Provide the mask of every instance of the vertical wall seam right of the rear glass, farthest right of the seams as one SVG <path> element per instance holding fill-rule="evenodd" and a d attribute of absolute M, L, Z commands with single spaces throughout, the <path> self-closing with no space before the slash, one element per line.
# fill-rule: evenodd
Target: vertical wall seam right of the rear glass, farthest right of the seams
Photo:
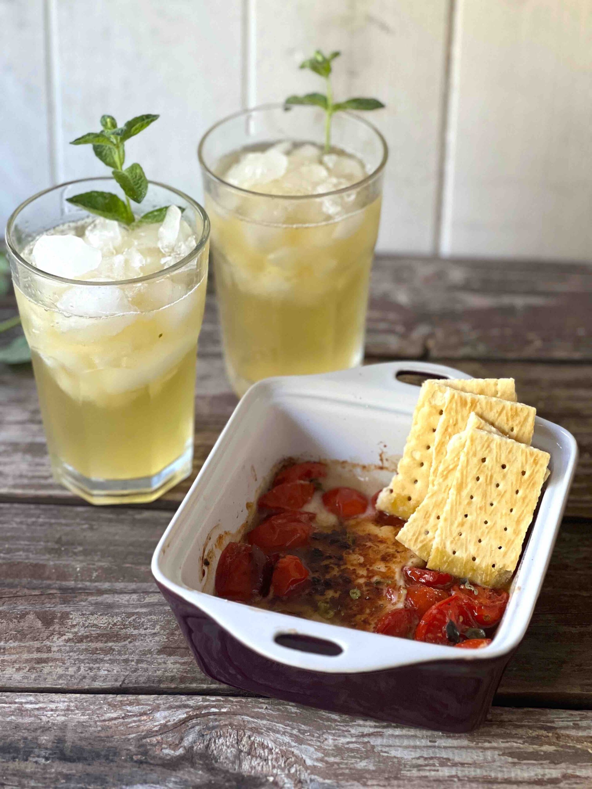
<path fill-rule="evenodd" d="M 458 41 L 456 25 L 460 17 L 459 5 L 462 0 L 450 0 L 448 5 L 448 25 L 446 30 L 444 53 L 444 84 L 440 105 L 440 131 L 438 135 L 439 157 L 436 181 L 436 205 L 433 224 L 433 254 L 442 254 L 442 238 L 444 235 L 444 222 L 448 221 L 448 211 L 445 208 L 445 198 L 449 191 L 448 180 L 451 174 L 449 157 L 453 142 L 451 125 L 454 124 L 453 107 L 455 103 L 454 72 L 457 58 L 455 47 Z"/>

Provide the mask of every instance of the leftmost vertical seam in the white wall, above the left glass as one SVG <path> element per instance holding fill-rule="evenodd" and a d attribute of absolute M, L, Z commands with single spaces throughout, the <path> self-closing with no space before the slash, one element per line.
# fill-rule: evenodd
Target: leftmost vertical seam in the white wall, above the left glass
<path fill-rule="evenodd" d="M 47 103 L 47 146 L 52 184 L 63 181 L 62 93 L 59 85 L 57 0 L 44 0 L 45 92 Z"/>

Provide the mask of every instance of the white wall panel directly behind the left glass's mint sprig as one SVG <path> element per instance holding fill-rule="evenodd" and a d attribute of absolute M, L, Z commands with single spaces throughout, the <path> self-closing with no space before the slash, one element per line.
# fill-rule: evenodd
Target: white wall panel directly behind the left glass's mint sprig
<path fill-rule="evenodd" d="M 89 146 L 69 145 L 101 114 L 152 112 L 127 162 L 200 199 L 200 136 L 241 107 L 241 0 L 58 0 L 58 28 L 62 178 L 108 174 Z"/>

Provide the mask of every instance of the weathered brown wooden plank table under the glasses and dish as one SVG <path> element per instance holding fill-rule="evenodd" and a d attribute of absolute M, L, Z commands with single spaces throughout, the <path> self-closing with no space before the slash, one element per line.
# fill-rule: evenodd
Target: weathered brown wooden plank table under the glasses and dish
<path fill-rule="evenodd" d="M 13 312 L 0 302 L 0 320 Z M 534 619 L 487 723 L 441 735 L 299 708 L 200 674 L 150 574 L 185 483 L 89 507 L 51 480 L 30 368 L 0 375 L 0 786 L 592 786 L 592 267 L 377 260 L 367 361 L 514 376 L 581 459 Z M 215 303 L 195 469 L 236 404 Z"/>

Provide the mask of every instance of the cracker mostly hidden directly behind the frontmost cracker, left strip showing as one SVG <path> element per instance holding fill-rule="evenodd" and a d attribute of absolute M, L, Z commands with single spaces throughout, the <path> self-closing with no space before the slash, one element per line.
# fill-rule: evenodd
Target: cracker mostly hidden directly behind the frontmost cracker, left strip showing
<path fill-rule="evenodd" d="M 466 438 L 469 432 L 474 429 L 501 436 L 501 433 L 493 425 L 478 417 L 476 413 L 471 413 L 463 432 L 452 436 L 448 442 L 448 450 L 444 460 L 433 474 L 425 499 L 397 535 L 399 542 L 410 548 L 425 562 L 432 552 L 433 540 L 440 524 L 440 516 L 446 507 L 448 493 L 465 448 Z"/>

